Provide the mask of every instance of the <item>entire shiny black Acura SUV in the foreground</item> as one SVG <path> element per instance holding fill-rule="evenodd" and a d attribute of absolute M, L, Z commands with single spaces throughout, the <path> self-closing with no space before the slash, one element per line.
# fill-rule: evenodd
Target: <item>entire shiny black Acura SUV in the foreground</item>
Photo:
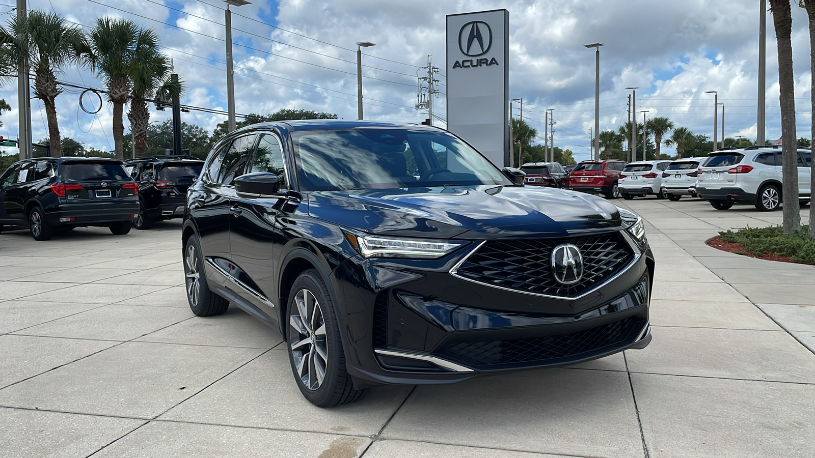
<path fill-rule="evenodd" d="M 215 144 L 187 192 L 189 304 L 205 316 L 232 302 L 280 329 L 298 387 L 323 407 L 372 385 L 647 346 L 641 218 L 522 183 L 430 126 L 247 126 Z"/>

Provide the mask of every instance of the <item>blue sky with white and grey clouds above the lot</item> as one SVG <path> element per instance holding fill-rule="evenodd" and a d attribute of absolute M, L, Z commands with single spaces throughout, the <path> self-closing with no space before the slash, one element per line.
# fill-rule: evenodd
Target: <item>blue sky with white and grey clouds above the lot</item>
<path fill-rule="evenodd" d="M 0 0 L 11 18 L 14 0 Z M 107 6 L 107 5 L 111 6 Z M 73 23 L 92 26 L 103 15 L 125 17 L 161 36 L 175 71 L 187 81 L 183 103 L 227 109 L 224 7 L 222 0 L 29 0 L 29 9 L 56 11 Z M 627 119 L 628 86 L 637 90 L 637 116 L 671 118 L 697 134 L 712 136 L 713 97 L 725 103 L 725 134 L 756 138 L 760 0 L 559 0 L 558 2 L 471 0 L 253 0 L 233 7 L 236 111 L 274 112 L 306 108 L 356 118 L 355 42 L 363 51 L 367 119 L 419 122 L 414 109 L 416 73 L 427 55 L 442 69 L 435 112 L 446 117 L 445 15 L 496 8 L 509 10 L 512 98 L 524 99 L 524 119 L 543 137 L 544 110 L 554 108 L 555 144 L 588 159 L 594 124 L 594 51 L 602 42 L 601 130 Z M 780 136 L 778 59 L 772 15 L 767 14 L 767 138 Z M 809 42 L 806 13 L 793 7 L 793 50 L 798 136 L 810 136 Z M 64 68 L 60 81 L 102 87 L 95 74 Z M 112 150 L 111 107 L 98 115 L 79 110 L 80 90 L 57 99 L 64 136 L 89 147 Z M 0 134 L 17 136 L 15 86 L 0 90 L 11 104 Z M 94 97 L 86 103 L 98 104 Z M 42 103 L 32 100 L 33 138 L 46 137 Z M 516 105 L 515 116 L 518 116 Z M 163 121 L 170 110 L 154 112 Z M 192 111 L 183 121 L 211 131 L 225 116 Z M 127 121 L 126 125 L 127 125 Z M 438 125 L 444 126 L 443 121 Z M 540 140 L 542 142 L 542 140 Z M 666 148 L 671 152 L 670 148 Z M 11 148 L 5 148 L 11 152 Z"/>

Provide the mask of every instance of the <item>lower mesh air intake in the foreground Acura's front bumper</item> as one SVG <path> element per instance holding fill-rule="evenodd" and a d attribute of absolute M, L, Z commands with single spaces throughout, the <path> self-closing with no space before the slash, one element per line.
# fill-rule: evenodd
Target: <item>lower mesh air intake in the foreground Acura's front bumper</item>
<path fill-rule="evenodd" d="M 460 342 L 447 346 L 440 354 L 471 368 L 530 366 L 615 346 L 625 341 L 637 324 L 641 324 L 641 319 L 632 316 L 596 328 L 557 336 Z"/>

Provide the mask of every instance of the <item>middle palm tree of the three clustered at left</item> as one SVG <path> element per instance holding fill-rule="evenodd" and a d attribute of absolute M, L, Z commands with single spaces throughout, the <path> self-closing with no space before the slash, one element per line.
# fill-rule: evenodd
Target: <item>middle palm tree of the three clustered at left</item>
<path fill-rule="evenodd" d="M 143 33 L 131 20 L 98 18 L 90 30 L 90 52 L 86 59 L 99 73 L 108 88 L 108 100 L 113 103 L 113 143 L 116 156 L 124 159 L 122 137 L 125 126 L 122 112 L 130 97 L 133 59 L 139 36 Z"/>

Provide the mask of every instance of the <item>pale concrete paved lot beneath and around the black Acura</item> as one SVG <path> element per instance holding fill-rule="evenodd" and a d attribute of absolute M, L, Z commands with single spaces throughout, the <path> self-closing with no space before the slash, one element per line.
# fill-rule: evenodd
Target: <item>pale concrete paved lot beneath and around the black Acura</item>
<path fill-rule="evenodd" d="M 703 244 L 781 212 L 616 203 L 658 261 L 648 348 L 331 409 L 302 398 L 275 331 L 192 315 L 180 222 L 3 233 L 0 456 L 815 456 L 815 267 Z"/>

